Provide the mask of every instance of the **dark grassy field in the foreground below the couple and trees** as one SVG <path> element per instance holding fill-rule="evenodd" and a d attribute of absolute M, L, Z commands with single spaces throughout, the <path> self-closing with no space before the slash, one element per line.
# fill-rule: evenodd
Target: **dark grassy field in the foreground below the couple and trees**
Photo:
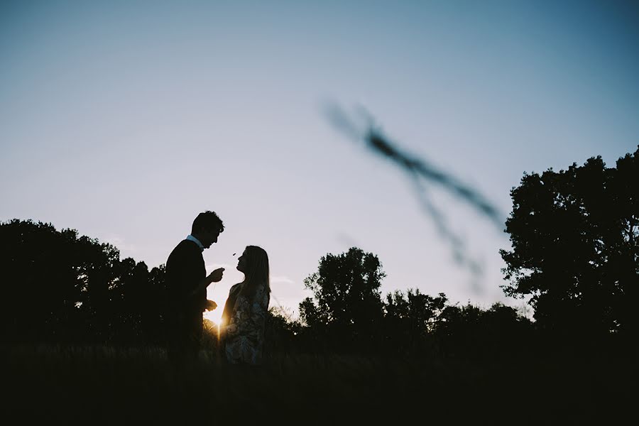
<path fill-rule="evenodd" d="M 1 350 L 5 425 L 621 424 L 638 396 L 638 368 L 623 356 L 497 362 L 279 354 L 260 368 L 233 368 L 202 351 L 176 373 L 159 348 Z"/>

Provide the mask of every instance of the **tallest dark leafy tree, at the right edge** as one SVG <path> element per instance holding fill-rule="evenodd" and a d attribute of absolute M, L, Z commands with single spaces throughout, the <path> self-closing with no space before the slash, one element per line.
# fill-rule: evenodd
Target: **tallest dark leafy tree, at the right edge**
<path fill-rule="evenodd" d="M 639 149 L 559 173 L 524 174 L 501 250 L 506 295 L 530 296 L 539 327 L 562 334 L 632 334 L 639 286 Z"/>

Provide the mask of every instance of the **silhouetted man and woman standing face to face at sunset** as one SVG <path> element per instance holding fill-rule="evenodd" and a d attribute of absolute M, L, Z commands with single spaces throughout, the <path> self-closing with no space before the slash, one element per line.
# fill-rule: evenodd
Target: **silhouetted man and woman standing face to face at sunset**
<path fill-rule="evenodd" d="M 217 243 L 224 224 L 215 212 L 202 212 L 191 234 L 173 249 L 166 262 L 168 356 L 177 366 L 195 361 L 202 339 L 202 312 L 217 303 L 207 300 L 207 287 L 222 280 L 224 268 L 207 275 L 202 251 Z M 238 258 L 244 280 L 231 287 L 219 327 L 222 354 L 231 364 L 261 364 L 264 328 L 270 300 L 268 256 L 247 246 Z"/>

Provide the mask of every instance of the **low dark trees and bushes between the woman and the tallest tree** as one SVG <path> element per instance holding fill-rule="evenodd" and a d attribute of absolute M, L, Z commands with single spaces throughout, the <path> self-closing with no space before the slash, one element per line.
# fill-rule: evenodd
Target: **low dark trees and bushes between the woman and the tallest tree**
<path fill-rule="evenodd" d="M 530 320 L 501 304 L 489 310 L 459 307 L 448 305 L 444 293 L 433 297 L 413 289 L 395 290 L 382 300 L 383 276 L 378 258 L 361 249 L 323 256 L 317 272 L 305 280 L 314 297 L 300 303 L 302 323 L 295 324 L 296 344 L 289 347 L 502 358 L 522 354 L 535 339 Z"/>

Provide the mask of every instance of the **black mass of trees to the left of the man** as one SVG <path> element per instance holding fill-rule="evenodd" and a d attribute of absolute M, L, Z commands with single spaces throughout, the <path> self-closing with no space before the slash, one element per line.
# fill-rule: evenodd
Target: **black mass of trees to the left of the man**
<path fill-rule="evenodd" d="M 164 268 L 120 260 L 111 244 L 51 224 L 0 223 L 8 341 L 160 342 Z"/>

